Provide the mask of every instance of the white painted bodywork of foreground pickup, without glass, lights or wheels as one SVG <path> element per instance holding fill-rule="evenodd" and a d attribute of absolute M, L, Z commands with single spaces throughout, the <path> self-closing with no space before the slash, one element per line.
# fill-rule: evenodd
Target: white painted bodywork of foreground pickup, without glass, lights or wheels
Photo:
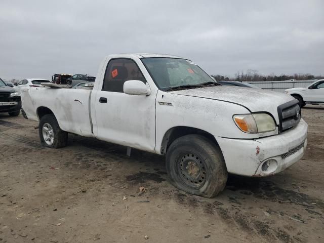
<path fill-rule="evenodd" d="M 258 138 L 258 134 L 240 131 L 232 119 L 234 114 L 268 112 L 278 125 L 277 106 L 293 100 L 293 97 L 226 86 L 164 92 L 158 90 L 141 62 L 143 56 L 174 57 L 158 54 L 110 55 L 100 64 L 92 91 L 30 87 L 22 92 L 23 109 L 28 118 L 37 120 L 37 108 L 48 107 L 64 131 L 158 154 L 162 153 L 161 144 L 170 129 L 178 126 L 197 128 L 216 138 L 230 173 L 246 176 L 259 173 L 258 168 L 265 159 L 277 158 L 305 140 L 307 125 L 303 120 L 289 131 L 277 134 L 276 129 L 262 134 L 274 136 Z M 104 72 L 111 58 L 133 59 L 147 81 L 150 94 L 102 91 Z M 100 103 L 101 97 L 106 98 L 107 103 Z M 295 163 L 303 151 L 304 148 L 295 157 L 278 159 L 279 166 L 275 173 Z M 265 175 L 259 173 L 258 176 Z"/>

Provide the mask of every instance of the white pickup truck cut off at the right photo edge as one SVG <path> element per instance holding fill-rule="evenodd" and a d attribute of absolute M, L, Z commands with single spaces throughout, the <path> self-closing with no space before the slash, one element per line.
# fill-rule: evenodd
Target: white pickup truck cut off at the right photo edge
<path fill-rule="evenodd" d="M 316 80 L 306 88 L 287 89 L 285 94 L 296 98 L 301 107 L 306 104 L 324 104 L 324 79 Z"/>

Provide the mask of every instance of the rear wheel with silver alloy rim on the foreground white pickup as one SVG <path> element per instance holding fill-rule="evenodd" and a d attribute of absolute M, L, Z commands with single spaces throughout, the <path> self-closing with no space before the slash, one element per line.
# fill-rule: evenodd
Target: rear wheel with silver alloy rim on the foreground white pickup
<path fill-rule="evenodd" d="M 61 148 L 66 146 L 68 133 L 61 130 L 53 114 L 44 115 L 39 121 L 39 138 L 43 146 Z"/>

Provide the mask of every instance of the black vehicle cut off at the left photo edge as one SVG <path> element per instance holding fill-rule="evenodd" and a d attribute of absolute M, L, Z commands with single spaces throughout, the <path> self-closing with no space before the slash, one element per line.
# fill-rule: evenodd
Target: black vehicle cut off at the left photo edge
<path fill-rule="evenodd" d="M 21 100 L 15 90 L 0 78 L 0 113 L 17 116 L 20 113 Z"/>

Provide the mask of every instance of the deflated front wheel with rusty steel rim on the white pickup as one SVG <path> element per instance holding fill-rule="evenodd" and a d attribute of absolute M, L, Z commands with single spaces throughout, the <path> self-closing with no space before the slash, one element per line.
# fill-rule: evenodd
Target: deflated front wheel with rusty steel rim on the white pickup
<path fill-rule="evenodd" d="M 227 170 L 220 148 L 201 135 L 186 135 L 168 148 L 167 172 L 171 183 L 190 194 L 214 197 L 226 185 Z"/>

